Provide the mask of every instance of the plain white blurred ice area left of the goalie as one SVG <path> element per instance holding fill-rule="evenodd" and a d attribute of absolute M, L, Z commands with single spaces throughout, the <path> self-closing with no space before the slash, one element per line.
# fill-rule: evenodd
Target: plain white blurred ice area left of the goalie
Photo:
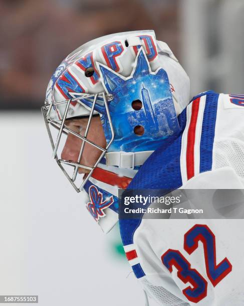
<path fill-rule="evenodd" d="M 41 306 L 143 306 L 113 249 L 118 229 L 100 230 L 51 158 L 41 111 L 2 111 L 0 127 L 0 294 L 39 295 Z"/>

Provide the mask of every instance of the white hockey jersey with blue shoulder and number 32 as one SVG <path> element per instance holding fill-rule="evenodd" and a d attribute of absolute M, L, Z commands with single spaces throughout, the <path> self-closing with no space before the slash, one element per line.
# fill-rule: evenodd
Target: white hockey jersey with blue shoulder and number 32
<path fill-rule="evenodd" d="M 129 188 L 244 189 L 244 96 L 205 92 Z M 244 197 L 243 197 L 244 206 Z M 127 259 L 160 305 L 244 305 L 243 219 L 120 219 Z"/>

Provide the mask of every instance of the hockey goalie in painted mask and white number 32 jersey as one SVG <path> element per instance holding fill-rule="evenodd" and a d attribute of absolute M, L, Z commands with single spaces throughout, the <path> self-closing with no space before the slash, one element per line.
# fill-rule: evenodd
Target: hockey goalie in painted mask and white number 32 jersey
<path fill-rule="evenodd" d="M 191 99 L 189 88 L 154 31 L 123 32 L 68 55 L 42 111 L 53 157 L 87 193 L 84 204 L 104 232 L 119 220 L 147 295 L 168 306 L 244 305 L 244 95 L 206 91 Z M 220 202 L 218 218 L 126 219 L 119 189 L 238 189 L 241 196 L 229 203 L 231 218 Z M 204 205 L 216 208 L 207 198 Z"/>

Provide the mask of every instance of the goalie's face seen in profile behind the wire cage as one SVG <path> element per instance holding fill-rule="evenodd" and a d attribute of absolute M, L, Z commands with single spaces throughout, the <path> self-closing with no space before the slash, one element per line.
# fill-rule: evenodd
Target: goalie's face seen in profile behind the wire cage
<path fill-rule="evenodd" d="M 87 123 L 88 123 L 88 118 L 70 119 L 65 121 L 65 125 L 67 127 L 72 129 L 76 133 L 80 134 L 81 136 L 84 136 Z M 104 131 L 100 116 L 92 117 L 87 134 L 87 139 L 91 140 L 92 142 L 98 144 L 103 148 L 106 147 L 106 139 L 104 136 Z M 77 162 L 81 145 L 82 145 L 82 140 L 77 136 L 69 133 L 61 154 L 61 158 Z M 94 166 L 95 162 L 97 161 L 101 153 L 102 153 L 101 150 L 86 142 L 80 160 L 80 164 L 86 166 Z M 90 170 L 88 169 L 79 168 L 79 173 L 89 173 L 89 172 Z"/>

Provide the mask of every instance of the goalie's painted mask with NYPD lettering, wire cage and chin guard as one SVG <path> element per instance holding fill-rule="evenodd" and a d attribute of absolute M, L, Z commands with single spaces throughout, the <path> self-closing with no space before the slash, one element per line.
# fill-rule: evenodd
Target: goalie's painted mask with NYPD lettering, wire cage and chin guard
<path fill-rule="evenodd" d="M 104 231 L 118 219 L 118 189 L 178 131 L 188 102 L 189 78 L 154 31 L 92 40 L 53 74 L 42 107 L 53 157 L 76 191 L 89 194 L 87 208 Z M 78 153 L 67 157 L 72 141 Z"/>

